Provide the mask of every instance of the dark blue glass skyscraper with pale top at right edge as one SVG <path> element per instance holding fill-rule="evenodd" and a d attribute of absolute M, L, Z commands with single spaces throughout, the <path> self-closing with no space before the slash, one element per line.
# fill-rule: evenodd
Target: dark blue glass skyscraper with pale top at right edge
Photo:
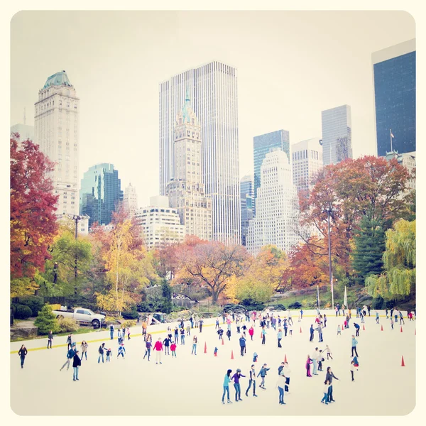
<path fill-rule="evenodd" d="M 415 151 L 415 38 L 371 55 L 377 155 Z M 391 133 L 392 147 L 391 147 Z"/>

